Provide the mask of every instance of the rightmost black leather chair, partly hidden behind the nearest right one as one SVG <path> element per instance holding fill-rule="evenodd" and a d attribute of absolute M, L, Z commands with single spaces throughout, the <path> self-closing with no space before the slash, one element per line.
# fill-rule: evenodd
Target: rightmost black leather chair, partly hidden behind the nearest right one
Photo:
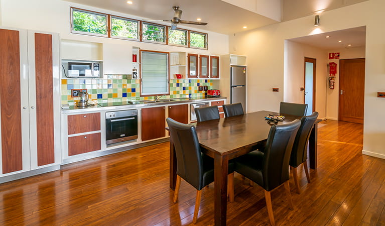
<path fill-rule="evenodd" d="M 293 172 L 294 184 L 296 185 L 297 193 L 300 194 L 300 186 L 298 184 L 297 167 L 302 163 L 304 164 L 304 170 L 306 179 L 310 183 L 310 176 L 307 164 L 307 144 L 310 137 L 310 132 L 313 128 L 315 121 L 317 120 L 318 112 L 313 112 L 310 116 L 304 116 L 301 119 L 301 127 L 298 130 L 296 139 L 293 144 L 292 154 L 290 156 L 290 170 Z"/>

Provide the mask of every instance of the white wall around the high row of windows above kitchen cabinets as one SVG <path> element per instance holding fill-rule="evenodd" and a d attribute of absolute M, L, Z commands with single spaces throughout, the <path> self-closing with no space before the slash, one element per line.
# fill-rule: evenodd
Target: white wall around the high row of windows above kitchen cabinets
<path fill-rule="evenodd" d="M 3 1 L 3 0 L 0 0 Z M 88 35 L 77 35 L 70 33 L 70 7 L 77 7 L 85 10 L 92 10 L 101 13 L 108 13 L 133 19 L 142 19 L 131 15 L 107 11 L 104 9 L 92 8 L 61 0 L 6 0 L 2 2 L 2 26 L 13 28 L 24 28 L 40 31 L 50 31 L 60 33 L 62 39 L 80 40 L 98 43 L 114 43 L 124 45 L 124 48 L 132 46 L 140 47 L 145 50 L 157 51 L 182 51 L 198 54 L 223 55 L 228 54 L 228 36 L 207 32 L 199 29 L 191 29 L 208 33 L 208 50 L 198 50 L 192 48 L 176 47 L 169 45 L 144 43 L 136 41 L 118 40 L 103 37 L 93 37 Z M 178 26 L 180 28 L 186 28 Z"/>

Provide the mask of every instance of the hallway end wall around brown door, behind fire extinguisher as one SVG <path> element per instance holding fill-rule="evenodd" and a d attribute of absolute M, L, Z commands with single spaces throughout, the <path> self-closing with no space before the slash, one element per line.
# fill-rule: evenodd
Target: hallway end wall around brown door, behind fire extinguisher
<path fill-rule="evenodd" d="M 365 58 L 365 47 L 331 49 L 327 53 L 340 53 L 340 59 L 355 59 Z M 327 114 L 326 118 L 338 120 L 338 98 L 339 98 L 339 59 L 329 60 L 328 63 L 334 62 L 337 64 L 337 74 L 334 83 L 334 89 L 327 89 Z"/>

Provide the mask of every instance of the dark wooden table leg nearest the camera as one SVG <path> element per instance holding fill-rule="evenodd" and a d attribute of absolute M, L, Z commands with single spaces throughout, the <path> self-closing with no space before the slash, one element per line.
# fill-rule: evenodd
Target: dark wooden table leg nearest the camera
<path fill-rule="evenodd" d="M 226 225 L 228 157 L 214 157 L 214 217 L 215 225 Z"/>

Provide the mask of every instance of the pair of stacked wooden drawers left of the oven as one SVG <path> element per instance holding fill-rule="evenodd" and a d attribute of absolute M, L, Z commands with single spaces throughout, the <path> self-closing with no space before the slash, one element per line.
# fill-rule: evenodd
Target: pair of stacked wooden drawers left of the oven
<path fill-rule="evenodd" d="M 100 112 L 67 116 L 68 156 L 101 149 Z"/>

